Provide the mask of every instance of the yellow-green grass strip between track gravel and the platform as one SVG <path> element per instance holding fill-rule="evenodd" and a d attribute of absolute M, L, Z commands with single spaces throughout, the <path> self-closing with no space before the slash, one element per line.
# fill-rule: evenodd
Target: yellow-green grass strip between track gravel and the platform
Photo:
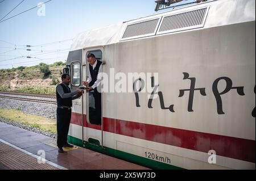
<path fill-rule="evenodd" d="M 6 110 L 0 108 L 0 117 L 6 120 L 13 120 L 18 123 L 30 125 L 44 131 L 57 133 L 56 120 L 42 116 L 28 115 L 18 110 Z"/>

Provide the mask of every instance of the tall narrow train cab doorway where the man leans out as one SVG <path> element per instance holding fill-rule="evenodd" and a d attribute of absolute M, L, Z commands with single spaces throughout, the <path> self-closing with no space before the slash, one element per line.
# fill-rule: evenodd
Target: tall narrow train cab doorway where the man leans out
<path fill-rule="evenodd" d="M 88 54 L 95 56 L 95 62 L 89 61 Z M 90 49 L 84 49 L 84 64 L 83 66 L 83 82 L 88 82 L 86 87 L 92 87 L 92 90 L 87 90 L 82 102 L 86 104 L 84 106 L 86 112 L 86 124 L 88 127 L 100 127 L 101 133 L 98 132 L 86 132 L 83 135 L 84 141 L 102 146 L 103 148 L 103 122 L 102 122 L 102 93 L 99 90 L 101 88 L 101 75 L 103 72 L 103 47 L 96 47 Z M 92 58 L 90 58 L 91 60 Z M 94 58 L 93 58 L 94 59 Z M 83 124 L 83 131 L 84 131 Z"/>

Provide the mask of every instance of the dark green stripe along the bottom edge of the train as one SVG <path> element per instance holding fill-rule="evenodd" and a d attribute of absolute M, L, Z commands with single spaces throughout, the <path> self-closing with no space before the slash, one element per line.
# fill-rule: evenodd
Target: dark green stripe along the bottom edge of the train
<path fill-rule="evenodd" d="M 172 170 L 181 170 L 182 168 L 176 167 L 173 165 L 169 165 L 166 163 L 154 161 L 152 159 L 139 157 L 138 155 L 126 153 L 124 151 L 115 150 L 112 148 L 105 147 L 105 149 L 102 149 L 101 146 L 96 146 L 93 144 L 89 144 L 89 142 L 84 141 L 84 144 L 82 144 L 82 140 L 76 137 L 68 136 L 68 142 L 73 145 L 77 145 L 86 149 L 90 149 L 93 151 L 97 151 L 102 154 L 110 155 L 116 158 L 124 159 L 129 162 L 137 163 L 139 165 L 143 165 L 146 167 L 150 167 L 151 169 L 172 169 Z"/>

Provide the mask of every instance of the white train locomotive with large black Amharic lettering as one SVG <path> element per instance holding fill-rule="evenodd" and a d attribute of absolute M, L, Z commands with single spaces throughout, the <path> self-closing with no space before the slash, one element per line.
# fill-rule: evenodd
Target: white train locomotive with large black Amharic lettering
<path fill-rule="evenodd" d="M 154 169 L 255 169 L 254 0 L 208 1 L 80 33 L 65 69 L 72 90 L 86 81 L 89 52 L 122 91 L 102 92 L 100 125 L 90 120 L 89 92 L 74 100 L 69 142 Z M 126 80 L 126 92 L 118 82 L 131 73 L 142 74 L 134 87 Z M 146 83 L 152 94 L 136 92 Z"/>

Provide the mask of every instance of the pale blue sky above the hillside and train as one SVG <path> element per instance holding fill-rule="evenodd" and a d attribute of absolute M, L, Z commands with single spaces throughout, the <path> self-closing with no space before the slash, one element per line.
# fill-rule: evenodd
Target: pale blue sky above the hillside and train
<path fill-rule="evenodd" d="M 170 10 L 155 12 L 155 0 L 47 1 L 0 0 L 0 69 L 67 60 L 72 39 L 80 32 Z M 47 2 L 45 11 L 29 10 L 40 2 Z"/>

